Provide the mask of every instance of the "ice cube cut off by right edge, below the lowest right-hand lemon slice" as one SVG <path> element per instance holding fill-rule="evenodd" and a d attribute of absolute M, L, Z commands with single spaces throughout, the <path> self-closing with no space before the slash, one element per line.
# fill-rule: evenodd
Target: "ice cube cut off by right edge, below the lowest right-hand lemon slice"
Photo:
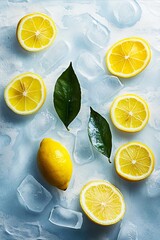
<path fill-rule="evenodd" d="M 160 169 L 152 173 L 146 181 L 147 193 L 149 197 L 160 196 Z"/>

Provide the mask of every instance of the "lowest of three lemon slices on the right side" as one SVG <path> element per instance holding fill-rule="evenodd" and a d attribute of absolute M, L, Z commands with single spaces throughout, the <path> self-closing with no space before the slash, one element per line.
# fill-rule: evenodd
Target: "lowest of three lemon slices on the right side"
<path fill-rule="evenodd" d="M 139 181 L 154 170 L 155 158 L 149 147 L 140 142 L 130 142 L 121 146 L 115 156 L 115 168 L 124 179 Z"/>

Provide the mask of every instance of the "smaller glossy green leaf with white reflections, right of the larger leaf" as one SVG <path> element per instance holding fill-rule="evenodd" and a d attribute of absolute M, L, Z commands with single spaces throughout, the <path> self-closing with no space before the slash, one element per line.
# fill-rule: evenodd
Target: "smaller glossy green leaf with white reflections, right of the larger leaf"
<path fill-rule="evenodd" d="M 103 155 L 108 157 L 112 151 L 112 134 L 108 122 L 99 113 L 90 108 L 88 135 L 92 145 Z"/>

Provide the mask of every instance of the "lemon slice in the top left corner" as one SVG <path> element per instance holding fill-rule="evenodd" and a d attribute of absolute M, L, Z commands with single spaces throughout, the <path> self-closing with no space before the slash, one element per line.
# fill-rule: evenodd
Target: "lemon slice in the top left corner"
<path fill-rule="evenodd" d="M 24 16 L 17 25 L 17 38 L 27 51 L 37 52 L 49 47 L 56 37 L 52 18 L 42 13 Z"/>

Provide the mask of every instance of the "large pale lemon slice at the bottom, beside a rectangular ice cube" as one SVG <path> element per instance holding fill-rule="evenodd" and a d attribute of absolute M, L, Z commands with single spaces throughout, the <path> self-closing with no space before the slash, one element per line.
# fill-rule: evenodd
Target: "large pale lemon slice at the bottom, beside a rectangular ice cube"
<path fill-rule="evenodd" d="M 100 225 L 115 224 L 125 213 L 122 193 L 104 180 L 87 183 L 81 190 L 80 204 L 86 215 Z"/>

